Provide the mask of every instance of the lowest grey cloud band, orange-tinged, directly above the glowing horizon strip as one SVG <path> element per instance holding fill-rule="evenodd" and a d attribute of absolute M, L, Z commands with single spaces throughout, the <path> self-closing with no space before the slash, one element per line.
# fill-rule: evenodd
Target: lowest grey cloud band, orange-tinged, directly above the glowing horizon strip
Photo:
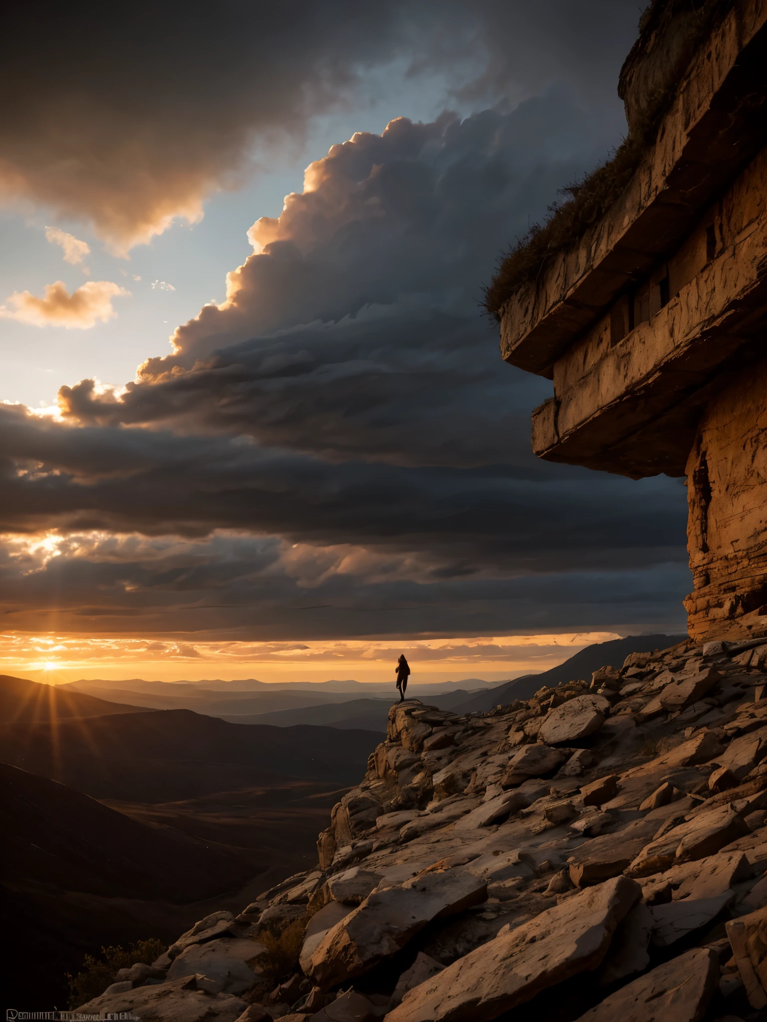
<path fill-rule="evenodd" d="M 6 630 L 162 631 L 198 642 L 588 631 L 595 621 L 674 628 L 685 574 L 670 564 L 441 579 L 422 559 L 222 533 L 194 542 L 76 533 L 52 557 L 18 545 L 8 553 L 0 553 Z"/>

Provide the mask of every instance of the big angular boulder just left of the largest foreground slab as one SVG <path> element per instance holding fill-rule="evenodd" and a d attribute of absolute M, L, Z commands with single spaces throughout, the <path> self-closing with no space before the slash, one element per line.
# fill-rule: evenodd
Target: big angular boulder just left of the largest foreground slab
<path fill-rule="evenodd" d="M 460 868 L 373 891 L 325 935 L 312 956 L 312 976 L 323 989 L 359 976 L 404 947 L 433 919 L 486 898 L 486 881 Z"/>

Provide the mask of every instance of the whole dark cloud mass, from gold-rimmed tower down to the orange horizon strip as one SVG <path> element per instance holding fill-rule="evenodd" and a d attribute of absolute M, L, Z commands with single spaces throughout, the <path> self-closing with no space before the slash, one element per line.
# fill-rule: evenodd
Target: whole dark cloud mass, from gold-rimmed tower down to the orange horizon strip
<path fill-rule="evenodd" d="M 480 316 L 494 254 L 607 143 L 561 90 L 355 135 L 137 381 L 62 387 L 62 422 L 0 408 L 0 525 L 58 530 L 2 567 L 25 621 L 55 587 L 58 621 L 103 631 L 676 622 L 683 491 L 537 461 L 549 384 Z"/>

